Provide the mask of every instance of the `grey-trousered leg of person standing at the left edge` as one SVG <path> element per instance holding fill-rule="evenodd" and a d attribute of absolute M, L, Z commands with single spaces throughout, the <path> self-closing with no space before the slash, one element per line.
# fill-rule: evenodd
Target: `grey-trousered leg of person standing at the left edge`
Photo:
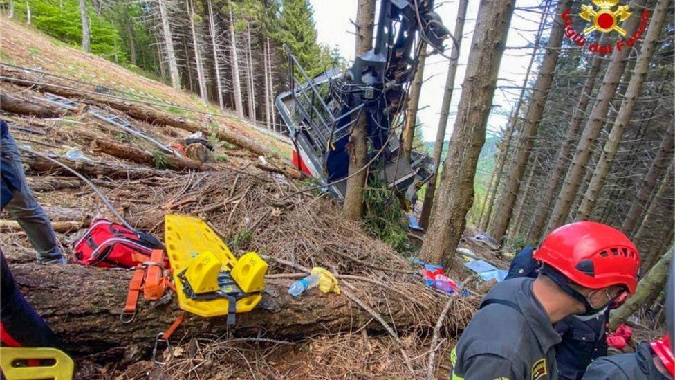
<path fill-rule="evenodd" d="M 8 134 L 0 140 L 0 150 L 3 155 L 14 165 L 17 174 L 21 178 L 21 192 L 15 192 L 15 196 L 5 207 L 5 210 L 14 218 L 26 232 L 30 244 L 37 251 L 37 260 L 40 262 L 65 262 L 61 247 L 57 244 L 56 235 L 49 218 L 30 192 L 24 168 L 21 167 L 21 155 L 19 147 Z"/>

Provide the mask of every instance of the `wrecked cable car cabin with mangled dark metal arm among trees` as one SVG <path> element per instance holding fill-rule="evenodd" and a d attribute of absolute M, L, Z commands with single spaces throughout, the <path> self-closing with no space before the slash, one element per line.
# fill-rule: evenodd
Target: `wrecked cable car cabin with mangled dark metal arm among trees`
<path fill-rule="evenodd" d="M 411 152 L 405 159 L 394 125 L 407 102 L 420 41 L 443 51 L 450 35 L 433 12 L 434 1 L 382 0 L 379 3 L 375 47 L 358 57 L 346 71 L 332 69 L 308 78 L 286 47 L 290 90 L 275 100 L 295 145 L 293 161 L 338 199 L 344 199 L 349 170 L 351 128 L 362 114 L 367 120 L 368 161 L 376 175 L 398 192 L 414 194 L 434 174 L 436 163 L 427 154 Z M 302 84 L 297 83 L 302 81 Z"/>

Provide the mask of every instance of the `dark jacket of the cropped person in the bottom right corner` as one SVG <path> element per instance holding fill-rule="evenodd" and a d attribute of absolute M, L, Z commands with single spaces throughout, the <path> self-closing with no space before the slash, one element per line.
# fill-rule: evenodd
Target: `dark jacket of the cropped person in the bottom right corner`
<path fill-rule="evenodd" d="M 641 342 L 635 347 L 634 354 L 607 356 L 594 361 L 582 379 L 665 380 L 666 377 L 656 369 L 649 343 Z"/>

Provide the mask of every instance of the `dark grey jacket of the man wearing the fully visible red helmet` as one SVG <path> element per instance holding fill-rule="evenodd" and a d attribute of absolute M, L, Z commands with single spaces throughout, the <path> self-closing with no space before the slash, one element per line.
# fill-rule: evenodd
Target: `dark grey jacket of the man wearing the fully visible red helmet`
<path fill-rule="evenodd" d="M 514 278 L 488 292 L 452 352 L 452 379 L 557 379 L 553 346 L 560 335 L 533 282 Z"/>

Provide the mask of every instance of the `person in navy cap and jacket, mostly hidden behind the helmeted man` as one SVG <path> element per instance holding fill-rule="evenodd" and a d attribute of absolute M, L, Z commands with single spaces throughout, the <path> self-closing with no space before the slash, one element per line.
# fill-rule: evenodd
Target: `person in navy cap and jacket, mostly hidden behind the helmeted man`
<path fill-rule="evenodd" d="M 542 263 L 533 259 L 534 253 L 535 248 L 527 247 L 515 255 L 506 280 L 519 277 L 537 278 Z M 607 356 L 609 311 L 622 305 L 626 298 L 621 298 L 607 307 L 602 314 L 589 317 L 572 315 L 553 325 L 562 338 L 562 341 L 555 345 L 555 360 L 560 379 L 581 379 L 592 361 Z"/>

